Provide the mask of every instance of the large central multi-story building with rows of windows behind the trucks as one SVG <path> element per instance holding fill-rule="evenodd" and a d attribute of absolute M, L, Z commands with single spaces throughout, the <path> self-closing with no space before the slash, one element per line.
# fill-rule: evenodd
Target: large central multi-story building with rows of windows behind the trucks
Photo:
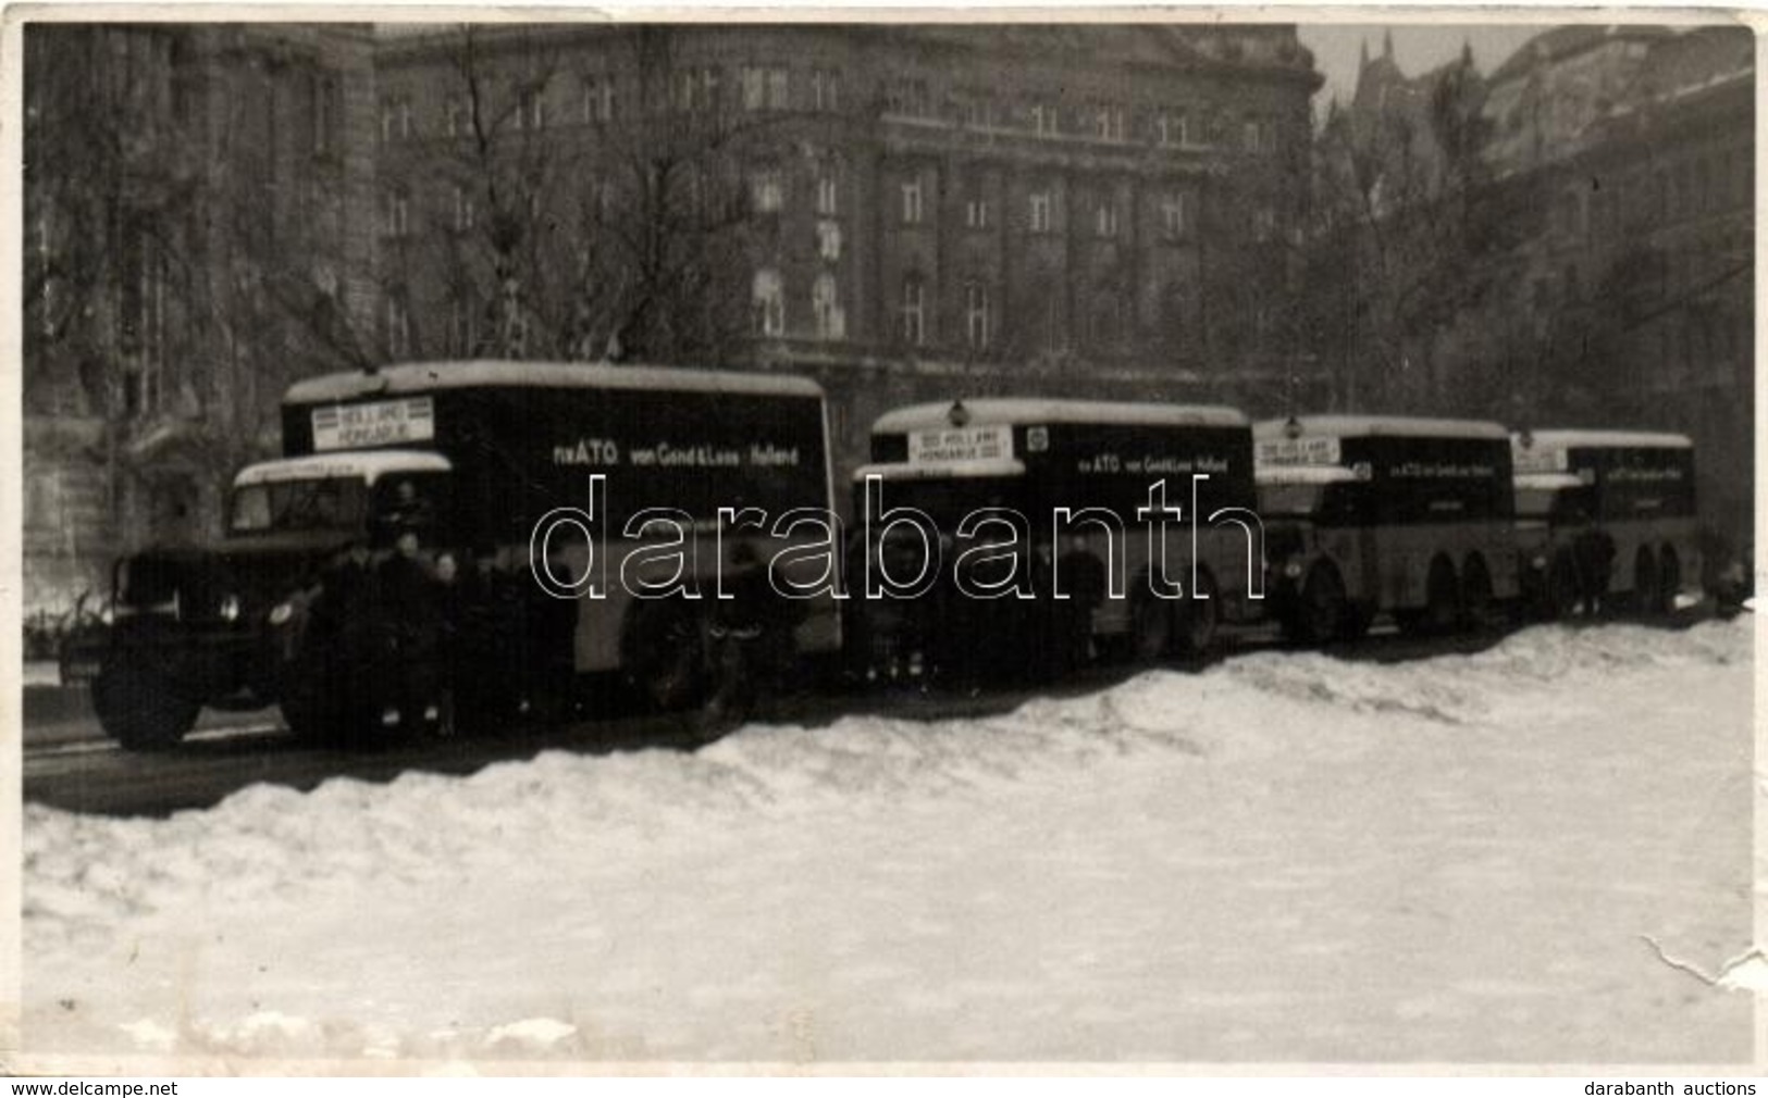
<path fill-rule="evenodd" d="M 923 394 L 1294 380 L 1291 26 L 421 28 L 378 78 L 391 357 L 808 372 L 843 463 Z"/>

